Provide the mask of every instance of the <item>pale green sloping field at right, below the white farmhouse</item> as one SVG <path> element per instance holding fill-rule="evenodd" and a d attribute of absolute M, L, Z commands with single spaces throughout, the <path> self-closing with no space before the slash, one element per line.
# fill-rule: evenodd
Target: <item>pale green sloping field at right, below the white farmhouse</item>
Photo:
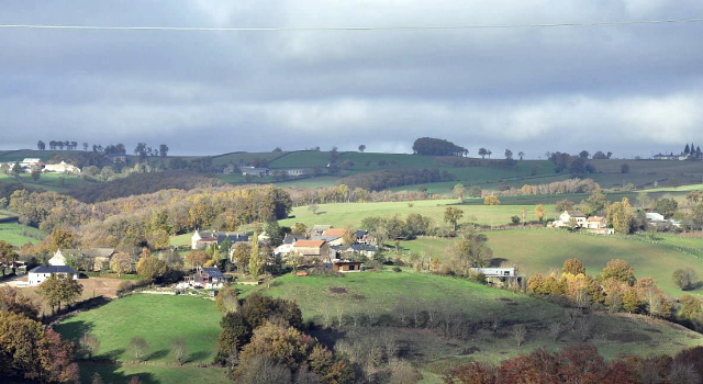
<path fill-rule="evenodd" d="M 558 229 L 513 229 L 486 233 L 488 246 L 493 250 L 493 263 L 516 263 L 522 273 L 559 271 L 566 259 L 581 260 L 590 274 L 599 274 L 611 259 L 625 259 L 635 269 L 637 278 L 651 276 L 658 285 L 674 297 L 689 293 L 703 298 L 703 290 L 682 292 L 674 285 L 671 274 L 680 268 L 693 268 L 703 278 L 702 239 L 673 236 L 659 237 L 652 244 L 646 237 L 595 236 L 570 234 Z M 447 255 L 453 240 L 419 238 L 403 241 L 406 252 L 438 257 Z M 678 247 L 691 249 L 681 251 Z M 695 251 L 699 249 L 699 251 Z"/>

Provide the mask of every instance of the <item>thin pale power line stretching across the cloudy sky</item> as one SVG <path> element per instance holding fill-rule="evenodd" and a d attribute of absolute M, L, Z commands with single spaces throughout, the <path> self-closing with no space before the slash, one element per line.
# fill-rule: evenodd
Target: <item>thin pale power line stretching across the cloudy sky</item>
<path fill-rule="evenodd" d="M 0 24 L 0 29 L 29 30 L 89 30 L 89 31 L 181 31 L 181 32 L 323 32 L 323 31 L 443 31 L 443 30 L 500 30 L 500 29 L 537 29 L 565 26 L 617 26 L 643 24 L 683 24 L 703 22 L 696 19 L 634 20 L 581 23 L 538 23 L 538 24 L 466 24 L 466 25 L 425 25 L 425 26 L 100 26 L 100 25 L 51 25 L 51 24 Z"/>

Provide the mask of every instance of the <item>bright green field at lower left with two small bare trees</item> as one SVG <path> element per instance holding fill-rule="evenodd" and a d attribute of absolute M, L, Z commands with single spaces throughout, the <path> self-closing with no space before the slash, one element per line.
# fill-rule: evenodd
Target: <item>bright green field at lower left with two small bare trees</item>
<path fill-rule="evenodd" d="M 145 373 L 156 383 L 204 383 L 212 376 L 215 383 L 226 382 L 220 375 L 199 363 L 211 363 L 216 353 L 216 338 L 220 334 L 220 313 L 211 301 L 188 297 L 135 294 L 115 300 L 107 305 L 72 316 L 56 330 L 64 337 L 77 341 L 85 332 L 93 334 L 100 340 L 98 358 L 114 359 L 120 364 L 85 364 L 85 371 L 98 369 L 110 376 Z M 149 358 L 144 364 L 134 364 L 134 358 L 126 351 L 130 339 L 143 337 L 149 346 Z M 174 369 L 170 341 L 185 338 L 189 362 L 182 369 Z M 222 371 L 222 370 L 220 370 Z M 180 372 L 180 373 L 179 373 Z"/>

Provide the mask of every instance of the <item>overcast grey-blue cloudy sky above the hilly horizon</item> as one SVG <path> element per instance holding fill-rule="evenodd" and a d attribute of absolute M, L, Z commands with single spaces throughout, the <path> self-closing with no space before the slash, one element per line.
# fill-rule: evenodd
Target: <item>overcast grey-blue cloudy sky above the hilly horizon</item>
<path fill-rule="evenodd" d="M 0 0 L 2 24 L 424 26 L 703 18 L 700 0 Z M 358 32 L 0 29 L 0 149 L 171 155 L 417 137 L 649 156 L 703 145 L 703 23 Z"/>

